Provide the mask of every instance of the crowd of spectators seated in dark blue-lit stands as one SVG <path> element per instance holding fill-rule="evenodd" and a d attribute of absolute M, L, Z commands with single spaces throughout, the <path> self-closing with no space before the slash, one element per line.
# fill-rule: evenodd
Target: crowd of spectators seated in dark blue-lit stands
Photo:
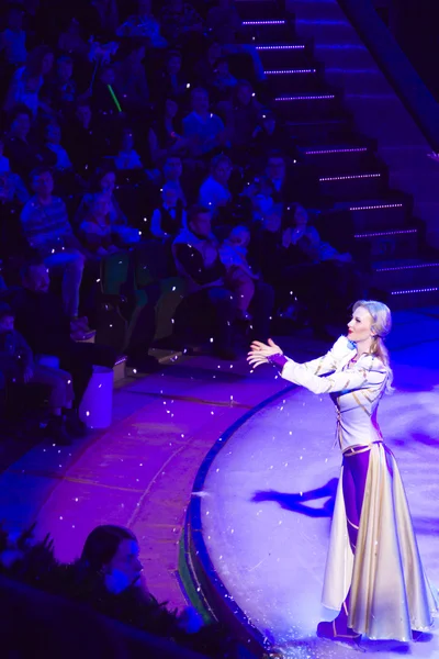
<path fill-rule="evenodd" d="M 184 283 L 176 345 L 196 338 L 223 359 L 297 304 L 325 335 L 331 301 L 346 309 L 361 287 L 300 205 L 318 203 L 245 30 L 233 0 L 2 8 L 1 404 L 44 387 L 56 442 L 85 432 L 92 366 L 117 358 L 83 343 L 114 255 L 128 255 L 133 292 L 136 255 L 160 245 L 160 272 Z M 154 330 L 145 321 L 135 335 L 131 365 L 155 368 Z M 61 370 L 43 368 L 45 354 Z"/>

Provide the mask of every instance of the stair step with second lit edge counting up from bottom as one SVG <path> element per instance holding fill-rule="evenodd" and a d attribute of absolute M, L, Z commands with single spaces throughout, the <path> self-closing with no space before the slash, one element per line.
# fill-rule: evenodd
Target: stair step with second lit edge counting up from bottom
<path fill-rule="evenodd" d="M 372 282 L 376 288 L 386 291 L 437 288 L 439 261 L 374 264 Z"/>

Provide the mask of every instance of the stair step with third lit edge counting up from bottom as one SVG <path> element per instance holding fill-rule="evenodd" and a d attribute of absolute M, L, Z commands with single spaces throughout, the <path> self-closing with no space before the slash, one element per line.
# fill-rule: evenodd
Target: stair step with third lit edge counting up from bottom
<path fill-rule="evenodd" d="M 353 238 L 357 244 L 367 245 L 372 259 L 414 258 L 418 254 L 419 235 L 415 227 L 361 232 Z"/>

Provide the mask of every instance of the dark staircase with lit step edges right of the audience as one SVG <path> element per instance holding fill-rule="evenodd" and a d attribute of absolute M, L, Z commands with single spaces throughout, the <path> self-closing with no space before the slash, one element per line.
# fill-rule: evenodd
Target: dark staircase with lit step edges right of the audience
<path fill-rule="evenodd" d="M 350 103 L 395 94 L 370 65 L 367 48 L 351 38 L 337 2 L 292 2 L 299 20 L 275 0 L 237 0 L 236 5 L 248 43 L 261 57 L 271 102 L 297 145 L 297 167 L 318 186 L 313 205 L 322 211 L 324 237 L 348 234 L 350 250 L 367 255 L 373 294 L 393 310 L 438 304 L 439 254 L 428 247 L 426 226 L 414 214 L 412 189 L 392 188 L 397 159 L 389 166 L 380 153 L 386 129 L 382 135 L 378 130 L 378 137 L 360 132 Z M 392 147 L 387 150 L 394 154 L 398 145 Z"/>

